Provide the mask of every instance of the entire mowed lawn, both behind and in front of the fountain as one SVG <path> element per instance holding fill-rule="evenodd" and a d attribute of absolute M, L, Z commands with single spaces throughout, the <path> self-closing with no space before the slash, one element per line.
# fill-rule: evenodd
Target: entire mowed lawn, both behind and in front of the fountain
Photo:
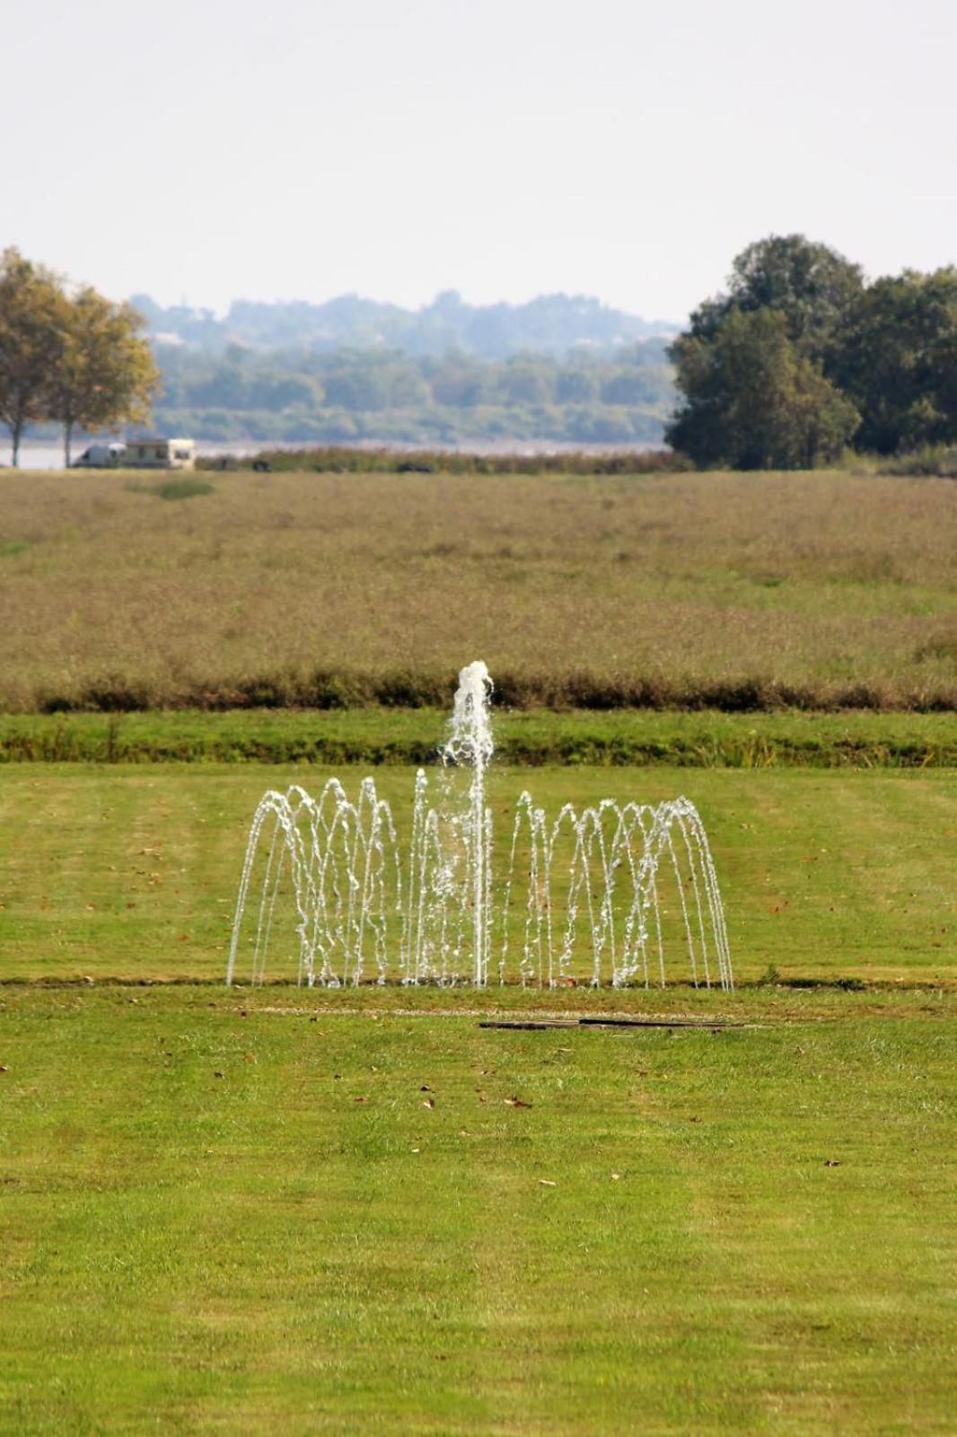
<path fill-rule="evenodd" d="M 0 769 L 0 1434 L 953 1431 L 957 773 L 493 772 L 500 841 L 687 793 L 731 994 L 227 990 L 254 805 L 329 772 Z"/>

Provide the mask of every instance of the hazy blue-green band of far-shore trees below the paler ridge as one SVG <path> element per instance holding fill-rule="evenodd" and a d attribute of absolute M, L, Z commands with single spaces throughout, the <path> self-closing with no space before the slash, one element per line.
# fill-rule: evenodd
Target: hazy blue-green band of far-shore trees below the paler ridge
<path fill-rule="evenodd" d="M 158 348 L 167 427 L 205 438 L 565 438 L 660 441 L 674 404 L 665 339 L 612 355 L 385 349 L 223 355 Z"/>

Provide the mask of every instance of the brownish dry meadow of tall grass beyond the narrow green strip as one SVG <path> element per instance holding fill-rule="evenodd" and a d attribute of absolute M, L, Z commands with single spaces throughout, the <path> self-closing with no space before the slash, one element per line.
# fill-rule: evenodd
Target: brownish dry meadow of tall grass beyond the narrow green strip
<path fill-rule="evenodd" d="M 957 489 L 0 474 L 0 707 L 957 706 Z"/>

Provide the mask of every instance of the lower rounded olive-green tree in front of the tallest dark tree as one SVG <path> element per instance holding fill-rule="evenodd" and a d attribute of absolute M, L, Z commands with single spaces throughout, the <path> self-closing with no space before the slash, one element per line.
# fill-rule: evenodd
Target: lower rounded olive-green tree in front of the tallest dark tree
<path fill-rule="evenodd" d="M 779 310 L 731 309 L 713 338 L 683 335 L 672 356 L 685 398 L 665 438 L 697 464 L 812 467 L 838 457 L 861 422 Z"/>

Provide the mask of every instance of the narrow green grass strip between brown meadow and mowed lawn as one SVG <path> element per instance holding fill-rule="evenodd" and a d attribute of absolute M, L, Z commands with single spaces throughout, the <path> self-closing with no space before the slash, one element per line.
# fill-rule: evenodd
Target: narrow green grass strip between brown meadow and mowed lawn
<path fill-rule="evenodd" d="M 438 708 L 0 714 L 0 763 L 434 763 Z M 951 714 L 499 713 L 506 764 L 957 767 Z"/>

